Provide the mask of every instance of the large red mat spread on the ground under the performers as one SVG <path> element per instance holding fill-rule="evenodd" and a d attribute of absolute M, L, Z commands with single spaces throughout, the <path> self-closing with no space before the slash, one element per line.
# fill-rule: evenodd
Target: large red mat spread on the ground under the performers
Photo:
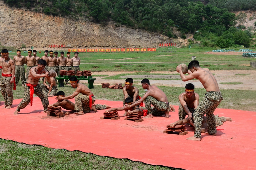
<path fill-rule="evenodd" d="M 135 123 L 124 120 L 124 111 L 119 111 L 119 120 L 101 120 L 105 110 L 82 116 L 46 117 L 38 97 L 34 97 L 33 106 L 29 104 L 14 115 L 20 101 L 14 100 L 14 108 L 0 109 L 0 138 L 183 169 L 256 166 L 256 112 L 216 109 L 215 114 L 231 117 L 233 122 L 219 126 L 224 130 L 217 131 L 217 136 L 202 134 L 202 141 L 198 142 L 186 140 L 194 135 L 191 127 L 186 127 L 189 132 L 184 136 L 163 133 L 167 124 L 178 120 L 178 106 L 174 106 L 176 112 L 170 112 L 169 118 L 154 117 Z M 56 102 L 55 97 L 49 102 Z M 122 106 L 121 101 L 96 100 L 95 104 Z"/>

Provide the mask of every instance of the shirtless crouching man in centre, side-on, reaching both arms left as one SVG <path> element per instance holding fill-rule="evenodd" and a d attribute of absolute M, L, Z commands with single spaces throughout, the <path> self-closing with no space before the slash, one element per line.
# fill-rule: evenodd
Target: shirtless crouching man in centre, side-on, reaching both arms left
<path fill-rule="evenodd" d="M 164 115 L 164 117 L 166 118 L 169 118 L 169 111 L 172 110 L 173 112 L 175 112 L 175 109 L 169 106 L 169 102 L 165 93 L 162 90 L 160 90 L 157 86 L 150 85 L 149 79 L 143 79 L 141 81 L 141 85 L 143 89 L 147 89 L 148 91 L 144 94 L 144 96 L 141 99 L 139 99 L 132 105 L 125 105 L 125 109 L 137 106 L 145 100 L 145 106 L 146 109 L 148 110 L 148 115 L 143 118 L 153 118 L 153 116 L 162 115 Z M 154 106 L 153 109 L 151 108 L 151 104 Z"/>

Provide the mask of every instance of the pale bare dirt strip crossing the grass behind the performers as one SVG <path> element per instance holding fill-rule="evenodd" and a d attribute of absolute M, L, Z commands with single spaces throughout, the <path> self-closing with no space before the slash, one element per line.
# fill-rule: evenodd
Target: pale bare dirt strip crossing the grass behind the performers
<path fill-rule="evenodd" d="M 93 72 L 93 74 L 103 74 L 103 75 L 117 75 L 122 73 L 134 73 L 134 72 Z M 152 74 L 170 74 L 167 76 L 161 76 L 161 75 L 134 75 L 129 77 L 138 77 L 141 78 L 139 80 L 134 80 L 137 85 L 141 85 L 139 83 L 140 80 L 144 78 L 179 78 L 177 75 L 177 72 L 150 72 Z M 212 73 L 215 74 L 215 77 L 219 83 L 220 89 L 241 89 L 241 90 L 256 90 L 256 70 L 218 70 L 218 71 L 212 71 Z M 92 76 L 93 76 L 92 74 Z M 249 74 L 249 75 L 235 75 L 235 74 Z M 104 77 L 95 77 L 96 80 L 94 81 L 94 84 L 101 85 L 101 83 L 124 83 L 126 76 L 123 77 L 122 80 L 106 80 L 102 79 Z M 154 84 L 157 86 L 177 86 L 177 87 L 184 87 L 188 82 L 191 82 L 195 85 L 196 88 L 203 88 L 202 84 L 198 80 L 190 80 L 187 82 L 183 82 L 181 80 L 150 80 L 150 84 Z M 243 84 L 220 84 L 225 82 L 242 82 Z"/>

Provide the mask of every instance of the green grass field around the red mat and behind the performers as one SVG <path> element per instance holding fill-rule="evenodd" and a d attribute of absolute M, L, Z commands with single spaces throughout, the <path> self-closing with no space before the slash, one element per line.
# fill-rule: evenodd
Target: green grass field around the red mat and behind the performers
<path fill-rule="evenodd" d="M 237 51 L 239 49 L 236 49 Z M 242 55 L 215 55 L 207 54 L 212 51 L 209 48 L 188 48 L 176 49 L 174 53 L 155 52 L 155 53 L 80 53 L 82 63 L 81 70 L 100 71 L 138 71 L 136 75 L 148 74 L 148 71 L 175 71 L 179 63 L 188 64 L 191 56 L 197 56 L 202 67 L 210 70 L 234 70 L 253 68 L 247 66 L 255 58 L 244 58 Z M 22 53 L 27 55 L 26 53 Z M 10 53 L 10 57 L 15 53 Z M 43 53 L 38 55 L 41 57 Z M 127 59 L 134 58 L 134 59 Z M 125 60 L 124 60 L 125 59 Z M 118 62 L 118 63 L 113 63 Z M 153 63 L 143 63 L 153 62 Z M 154 63 L 155 62 L 155 63 Z M 162 62 L 162 63 L 156 63 Z M 165 63 L 174 62 L 174 63 Z M 129 75 L 129 74 L 124 74 Z M 134 75 L 134 74 L 133 74 Z M 174 74 L 175 75 L 175 74 Z M 102 76 L 100 73 L 98 76 Z M 106 77 L 106 79 L 119 79 L 121 75 Z M 242 75 L 241 75 L 242 76 Z M 95 76 L 96 77 L 96 76 Z M 143 96 L 145 91 L 141 86 L 139 95 Z M 159 86 L 166 93 L 168 101 L 173 105 L 179 105 L 178 95 L 184 92 L 184 88 Z M 58 88 L 65 91 L 66 95 L 73 93 L 74 89 L 70 86 Z M 97 99 L 122 101 L 122 90 L 102 89 L 99 85 L 94 85 L 92 89 Z M 195 89 L 199 94 L 200 101 L 203 99 L 205 89 Z M 222 90 L 224 97 L 218 108 L 229 108 L 238 110 L 255 111 L 256 91 L 250 90 Z M 14 91 L 14 99 L 23 98 L 24 88 L 17 86 Z M 1 97 L 3 101 L 3 97 Z M 51 104 L 51 103 L 50 103 Z M 177 112 L 177 111 L 176 111 Z M 171 167 L 152 166 L 141 162 L 134 162 L 128 159 L 115 159 L 102 157 L 90 153 L 79 151 L 69 152 L 65 149 L 51 149 L 43 146 L 26 145 L 9 140 L 0 140 L 0 170 L 1 169 L 172 169 Z"/>

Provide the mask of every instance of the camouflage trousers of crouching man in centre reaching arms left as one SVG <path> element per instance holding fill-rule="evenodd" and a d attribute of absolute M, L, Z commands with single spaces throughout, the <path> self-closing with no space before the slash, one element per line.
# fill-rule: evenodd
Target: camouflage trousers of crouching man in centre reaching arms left
<path fill-rule="evenodd" d="M 154 106 L 153 109 L 151 104 Z M 165 114 L 166 110 L 170 110 L 169 103 L 157 101 L 157 99 L 152 96 L 147 96 L 147 98 L 145 98 L 145 107 L 148 110 L 147 113 L 152 114 L 153 116 L 162 116 Z"/>

